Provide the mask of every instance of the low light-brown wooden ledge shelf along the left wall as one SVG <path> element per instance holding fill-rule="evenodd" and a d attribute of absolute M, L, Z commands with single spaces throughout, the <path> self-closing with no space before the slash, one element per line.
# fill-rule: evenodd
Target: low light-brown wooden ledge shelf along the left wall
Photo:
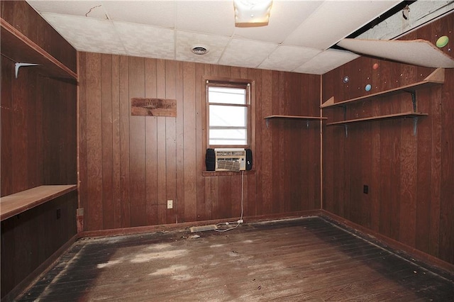
<path fill-rule="evenodd" d="M 76 191 L 77 185 L 37 186 L 33 189 L 0 198 L 0 220 L 23 213 L 35 206 Z"/>

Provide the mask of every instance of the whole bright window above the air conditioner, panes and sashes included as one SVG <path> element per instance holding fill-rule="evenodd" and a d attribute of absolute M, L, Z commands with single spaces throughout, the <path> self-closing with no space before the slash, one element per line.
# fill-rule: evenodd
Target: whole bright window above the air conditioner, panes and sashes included
<path fill-rule="evenodd" d="M 250 83 L 206 81 L 207 145 L 250 145 Z"/>

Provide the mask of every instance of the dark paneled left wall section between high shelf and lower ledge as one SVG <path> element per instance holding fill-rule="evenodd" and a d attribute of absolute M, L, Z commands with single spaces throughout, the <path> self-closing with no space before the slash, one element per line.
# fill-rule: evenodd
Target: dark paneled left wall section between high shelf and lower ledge
<path fill-rule="evenodd" d="M 77 87 L 1 57 L 1 196 L 77 183 Z"/>

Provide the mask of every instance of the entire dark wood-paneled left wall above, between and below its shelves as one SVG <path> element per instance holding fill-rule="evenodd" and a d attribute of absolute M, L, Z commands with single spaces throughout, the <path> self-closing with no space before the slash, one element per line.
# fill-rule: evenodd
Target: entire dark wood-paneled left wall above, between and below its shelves
<path fill-rule="evenodd" d="M 1 18 L 76 70 L 74 48 L 25 1 L 1 1 L 0 7 Z M 2 47 L 14 51 L 11 45 Z M 76 184 L 77 86 L 33 67 L 22 68 L 16 79 L 14 63 L 2 52 L 0 195 L 44 184 Z M 1 221 L 1 298 L 13 294 L 77 234 L 76 208 L 73 191 Z"/>

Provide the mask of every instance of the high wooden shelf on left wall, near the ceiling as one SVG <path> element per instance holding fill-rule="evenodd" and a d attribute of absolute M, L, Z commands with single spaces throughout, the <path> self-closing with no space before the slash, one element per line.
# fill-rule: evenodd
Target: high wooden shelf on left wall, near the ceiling
<path fill-rule="evenodd" d="M 13 62 L 38 64 L 39 66 L 26 68 L 39 69 L 40 72 L 49 77 L 77 80 L 75 72 L 55 59 L 55 57 L 43 50 L 43 48 L 26 37 L 26 35 L 23 35 L 3 18 L 0 18 L 0 27 L 2 55 L 13 60 Z"/>

